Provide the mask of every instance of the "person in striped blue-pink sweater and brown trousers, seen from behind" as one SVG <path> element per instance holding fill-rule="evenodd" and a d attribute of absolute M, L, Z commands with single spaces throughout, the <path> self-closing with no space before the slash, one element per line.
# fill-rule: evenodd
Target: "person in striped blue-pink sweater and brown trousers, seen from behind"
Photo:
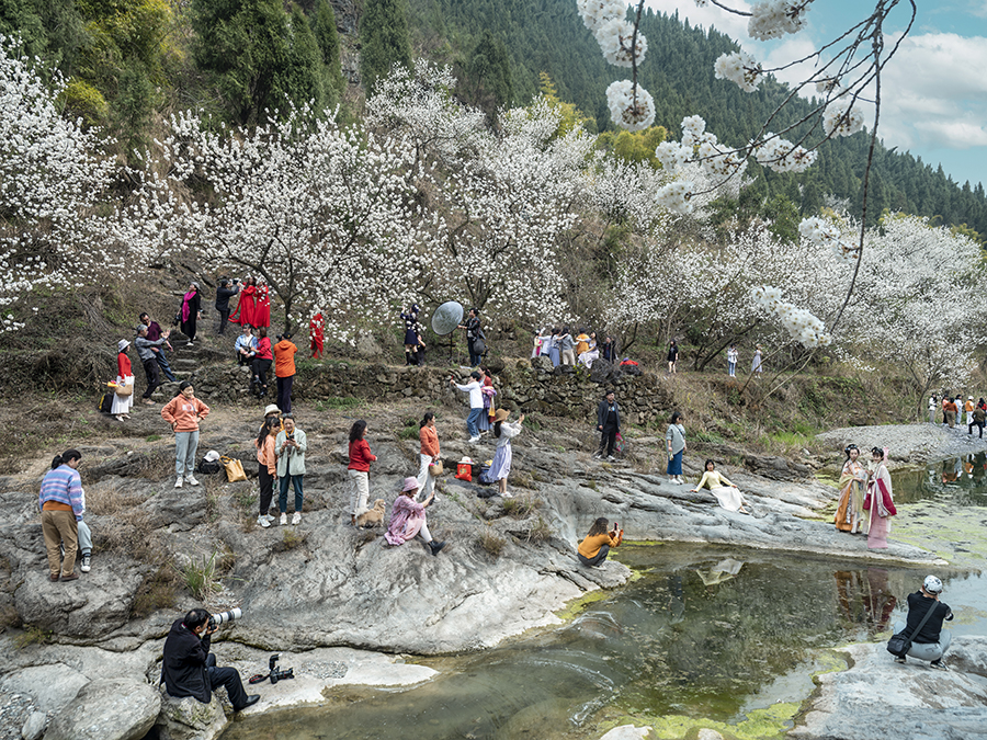
<path fill-rule="evenodd" d="M 42 479 L 37 508 L 41 510 L 42 534 L 48 554 L 48 578 L 75 581 L 76 549 L 79 547 L 78 521 L 86 511 L 79 465 L 82 453 L 66 449 L 52 460 L 52 469 Z M 61 556 L 65 549 L 65 557 Z"/>

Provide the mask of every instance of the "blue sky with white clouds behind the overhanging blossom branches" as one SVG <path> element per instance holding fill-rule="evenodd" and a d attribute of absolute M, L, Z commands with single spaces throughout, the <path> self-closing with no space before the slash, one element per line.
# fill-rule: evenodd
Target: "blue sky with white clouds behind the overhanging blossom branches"
<path fill-rule="evenodd" d="M 774 42 L 747 35 L 747 19 L 693 0 L 647 0 L 656 11 L 679 12 L 693 25 L 729 34 L 764 67 L 779 67 L 832 41 L 872 10 L 869 0 L 815 0 L 806 27 Z M 724 0 L 749 10 L 751 3 Z M 942 163 L 954 181 L 987 184 L 987 0 L 916 0 L 915 25 L 882 78 L 880 136 L 888 147 L 909 150 L 922 161 Z M 904 30 L 910 4 L 895 9 L 885 30 L 893 42 Z M 887 44 L 890 46 L 890 43 Z M 795 71 L 783 81 L 804 79 Z M 867 127 L 873 112 L 867 111 Z"/>

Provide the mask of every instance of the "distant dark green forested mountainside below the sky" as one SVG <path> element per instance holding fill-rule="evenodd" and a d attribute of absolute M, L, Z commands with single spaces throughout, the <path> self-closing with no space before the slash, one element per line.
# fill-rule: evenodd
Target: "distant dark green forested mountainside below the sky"
<path fill-rule="evenodd" d="M 547 72 L 563 100 L 575 103 L 601 129 L 612 126 L 604 91 L 619 72 L 600 55 L 577 14 L 575 0 L 410 0 L 410 12 L 417 46 L 453 64 L 465 78 L 467 94 L 483 90 L 481 75 L 496 70 L 483 64 L 492 35 L 510 57 L 514 102 L 524 103 L 536 94 L 538 73 Z M 747 93 L 715 79 L 716 57 L 738 48 L 718 32 L 706 34 L 678 15 L 650 9 L 645 11 L 640 31 L 649 48 L 640 82 L 655 98 L 655 124 L 665 126 L 672 138 L 681 134 L 683 117 L 699 114 L 722 141 L 739 146 L 757 134 L 787 94 L 787 88 L 773 81 Z M 472 79 L 477 76 L 479 79 Z M 808 102 L 796 101 L 780 125 L 798 121 L 808 110 Z M 824 144 L 817 163 L 803 174 L 769 172 L 755 162 L 748 172 L 757 177 L 755 193 L 784 195 L 804 216 L 817 213 L 827 194 L 849 201 L 849 213 L 859 215 L 866 152 L 867 137 L 860 133 Z M 987 234 L 983 184 L 961 186 L 941 167 L 908 152 L 878 147 L 871 198 L 870 213 L 875 220 L 887 208 L 939 216 L 944 224 L 965 224 Z"/>

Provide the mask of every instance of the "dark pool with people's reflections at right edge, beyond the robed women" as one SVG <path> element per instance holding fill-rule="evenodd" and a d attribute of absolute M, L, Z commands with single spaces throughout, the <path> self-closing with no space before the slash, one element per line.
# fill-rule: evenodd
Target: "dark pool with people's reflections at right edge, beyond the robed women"
<path fill-rule="evenodd" d="M 892 474 L 895 501 L 948 499 L 960 506 L 987 506 L 987 453 L 929 463 L 923 470 Z"/>

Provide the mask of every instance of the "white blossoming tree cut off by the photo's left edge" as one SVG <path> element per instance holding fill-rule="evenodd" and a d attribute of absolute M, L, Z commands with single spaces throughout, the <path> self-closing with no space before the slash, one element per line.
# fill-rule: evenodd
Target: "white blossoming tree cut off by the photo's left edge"
<path fill-rule="evenodd" d="M 125 275 L 132 260 L 104 249 L 92 217 L 115 174 L 97 132 L 58 113 L 65 83 L 45 83 L 18 42 L 0 35 L 0 333 L 35 288 L 81 287 L 83 276 Z"/>

